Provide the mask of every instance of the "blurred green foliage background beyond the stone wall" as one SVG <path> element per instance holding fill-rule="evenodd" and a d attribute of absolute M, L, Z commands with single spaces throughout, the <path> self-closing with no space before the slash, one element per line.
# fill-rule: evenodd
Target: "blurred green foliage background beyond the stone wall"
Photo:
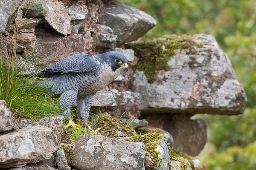
<path fill-rule="evenodd" d="M 230 57 L 247 94 L 239 116 L 201 115 L 214 152 L 207 170 L 256 169 L 256 0 L 120 0 L 145 11 L 157 26 L 144 39 L 164 34 L 212 34 Z"/>

